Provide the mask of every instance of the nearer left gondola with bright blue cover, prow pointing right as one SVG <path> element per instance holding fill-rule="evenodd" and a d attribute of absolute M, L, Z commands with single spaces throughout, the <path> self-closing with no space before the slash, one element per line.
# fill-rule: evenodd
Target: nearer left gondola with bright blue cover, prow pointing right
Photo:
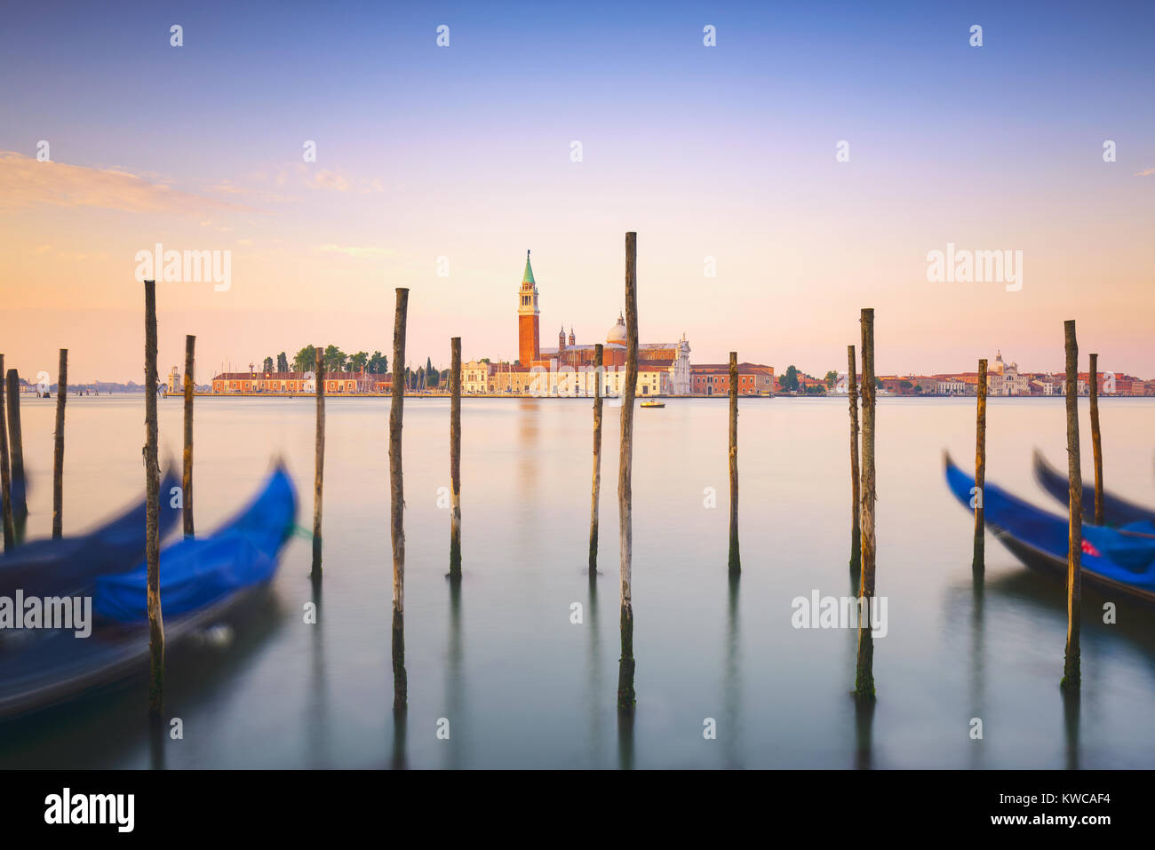
<path fill-rule="evenodd" d="M 161 552 L 165 651 L 236 616 L 276 573 L 293 529 L 297 493 L 277 467 L 253 501 L 219 530 Z M 96 627 L 76 638 L 57 629 L 25 646 L 0 646 L 0 717 L 62 702 L 148 669 L 147 567 L 96 582 Z"/>

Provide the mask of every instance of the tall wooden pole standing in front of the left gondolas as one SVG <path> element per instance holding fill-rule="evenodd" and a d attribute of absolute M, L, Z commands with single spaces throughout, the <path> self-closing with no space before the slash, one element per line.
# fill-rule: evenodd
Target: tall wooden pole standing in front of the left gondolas
<path fill-rule="evenodd" d="M 64 352 L 60 355 L 60 360 L 64 365 Z M 154 717 L 159 717 L 164 709 L 164 619 L 161 616 L 161 467 L 157 463 L 156 392 L 156 281 L 144 281 L 144 554 L 148 561 L 148 631 L 151 662 L 148 710 Z M 64 415 L 64 405 L 59 404 L 62 395 L 62 392 L 57 393 L 58 427 Z"/>

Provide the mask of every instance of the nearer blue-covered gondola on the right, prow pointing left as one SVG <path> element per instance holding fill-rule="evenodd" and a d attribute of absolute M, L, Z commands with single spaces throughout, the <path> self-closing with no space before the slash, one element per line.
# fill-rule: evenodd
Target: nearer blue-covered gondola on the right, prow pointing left
<path fill-rule="evenodd" d="M 968 508 L 975 478 L 945 456 L 951 492 Z M 1028 567 L 1066 575 L 1067 517 L 1036 508 L 988 482 L 983 516 L 994 537 Z M 1087 581 L 1155 603 L 1155 534 L 1147 523 L 1111 529 L 1082 527 L 1082 575 Z"/>

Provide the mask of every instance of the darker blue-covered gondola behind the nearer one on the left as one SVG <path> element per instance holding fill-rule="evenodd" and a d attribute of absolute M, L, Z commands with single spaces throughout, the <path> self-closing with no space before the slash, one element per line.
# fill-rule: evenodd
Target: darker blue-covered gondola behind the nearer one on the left
<path fill-rule="evenodd" d="M 169 493 L 180 480 L 170 469 L 161 483 L 158 528 L 163 536 L 180 516 Z M 144 557 L 144 500 L 87 535 L 31 540 L 0 557 L 0 596 L 74 596 L 97 576 L 132 569 Z"/>

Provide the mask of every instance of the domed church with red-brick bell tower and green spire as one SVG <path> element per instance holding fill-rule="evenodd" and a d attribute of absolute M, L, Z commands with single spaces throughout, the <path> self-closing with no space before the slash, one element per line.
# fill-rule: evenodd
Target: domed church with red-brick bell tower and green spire
<path fill-rule="evenodd" d="M 594 344 L 579 343 L 573 327 L 566 336 L 565 326 L 558 333 L 557 348 L 541 345 L 539 292 L 534 279 L 529 252 L 526 252 L 526 271 L 521 278 L 517 303 L 517 353 L 523 368 L 536 374 L 547 373 L 558 378 L 549 379 L 549 395 L 572 395 L 575 385 L 578 394 L 593 395 L 593 376 L 584 374 L 594 370 Z M 605 335 L 602 344 L 602 364 L 606 375 L 603 389 L 617 392 L 611 375 L 626 365 L 626 320 L 619 313 L 618 320 Z M 578 373 L 578 374 L 574 374 Z M 581 376 L 584 374 L 584 376 Z M 562 376 L 565 375 L 565 376 Z M 620 379 L 618 379 L 620 382 Z M 638 345 L 638 394 L 639 395 L 690 395 L 690 343 L 686 335 L 673 343 L 639 343 Z"/>

